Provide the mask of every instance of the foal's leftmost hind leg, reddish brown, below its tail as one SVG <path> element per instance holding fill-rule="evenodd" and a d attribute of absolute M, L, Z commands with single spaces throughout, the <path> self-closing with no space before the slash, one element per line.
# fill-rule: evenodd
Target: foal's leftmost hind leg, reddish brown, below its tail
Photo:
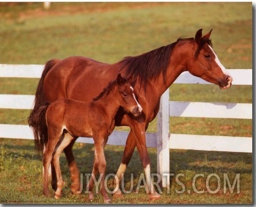
<path fill-rule="evenodd" d="M 49 196 L 49 188 L 48 188 L 48 173 L 49 173 L 49 166 L 51 164 L 51 160 L 53 159 L 53 151 L 60 141 L 60 136 L 56 135 L 56 132 L 53 132 L 51 128 L 48 128 L 48 143 L 46 145 L 46 151 L 44 151 L 44 158 L 43 158 L 43 165 L 44 165 L 44 184 L 43 184 L 43 192 L 46 196 Z"/>

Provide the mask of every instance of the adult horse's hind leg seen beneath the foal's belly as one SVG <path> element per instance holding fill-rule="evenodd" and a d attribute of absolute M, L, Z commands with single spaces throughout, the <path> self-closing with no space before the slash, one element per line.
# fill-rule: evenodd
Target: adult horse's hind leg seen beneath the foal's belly
<path fill-rule="evenodd" d="M 69 134 L 68 134 L 69 135 Z M 75 139 L 73 139 L 70 144 L 64 149 L 64 153 L 66 155 L 68 161 L 68 167 L 70 171 L 70 179 L 71 179 L 71 191 L 74 194 L 78 194 L 80 192 L 80 172 L 77 167 L 77 163 L 75 162 L 75 157 L 72 152 L 72 147 L 74 146 Z"/>

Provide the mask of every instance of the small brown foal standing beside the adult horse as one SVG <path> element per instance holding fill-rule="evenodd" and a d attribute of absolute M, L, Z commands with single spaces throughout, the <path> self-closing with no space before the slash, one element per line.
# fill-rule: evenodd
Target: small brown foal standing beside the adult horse
<path fill-rule="evenodd" d="M 103 148 L 108 136 L 115 128 L 115 115 L 122 108 L 131 116 L 141 115 L 142 108 L 136 100 L 132 85 L 118 74 L 117 80 L 108 86 L 89 103 L 75 101 L 74 99 L 60 99 L 51 104 L 41 106 L 40 114 L 46 113 L 48 125 L 48 143 L 44 152 L 44 187 L 43 191 L 49 196 L 48 170 L 53 161 L 56 170 L 57 189 L 55 198 L 60 198 L 64 185 L 60 170 L 60 154 L 70 142 L 77 137 L 93 137 L 94 139 L 94 176 L 101 174 L 101 194 L 104 202 L 110 202 L 104 187 L 106 160 Z M 94 182 L 88 184 L 89 199 L 93 199 Z"/>

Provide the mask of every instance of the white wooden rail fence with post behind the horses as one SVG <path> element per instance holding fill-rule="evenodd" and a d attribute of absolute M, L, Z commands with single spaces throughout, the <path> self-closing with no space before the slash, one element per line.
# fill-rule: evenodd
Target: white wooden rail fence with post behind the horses
<path fill-rule="evenodd" d="M 44 65 L 0 65 L 0 77 L 40 78 Z M 252 85 L 251 69 L 229 69 L 233 85 Z M 182 73 L 174 84 L 209 84 L 188 72 Z M 217 86 L 216 86 L 217 87 Z M 0 108 L 31 109 L 32 95 L 0 94 Z M 209 110 L 210 109 L 210 110 Z M 162 98 L 158 113 L 158 132 L 147 133 L 148 147 L 157 147 L 157 169 L 160 175 L 169 173 L 169 149 L 193 149 L 205 151 L 229 151 L 252 153 L 252 137 L 228 137 L 216 135 L 170 134 L 169 116 L 206 118 L 252 119 L 252 104 L 248 103 L 202 103 L 169 101 L 169 90 Z M 128 132 L 114 131 L 107 144 L 125 145 Z M 0 123 L 0 137 L 13 139 L 34 139 L 28 125 Z M 77 142 L 93 143 L 93 139 L 79 137 Z M 169 180 L 162 177 L 163 187 Z"/>

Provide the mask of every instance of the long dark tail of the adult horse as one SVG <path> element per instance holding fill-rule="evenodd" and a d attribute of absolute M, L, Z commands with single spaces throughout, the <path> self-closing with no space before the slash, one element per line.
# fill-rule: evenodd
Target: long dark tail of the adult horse
<path fill-rule="evenodd" d="M 39 153 L 42 153 L 45 144 L 48 142 L 48 128 L 45 114 L 49 104 L 45 104 L 44 78 L 58 61 L 59 60 L 50 60 L 44 66 L 44 71 L 42 72 L 35 92 L 34 108 L 30 111 L 28 118 L 29 126 L 32 127 L 35 137 L 35 148 Z"/>

